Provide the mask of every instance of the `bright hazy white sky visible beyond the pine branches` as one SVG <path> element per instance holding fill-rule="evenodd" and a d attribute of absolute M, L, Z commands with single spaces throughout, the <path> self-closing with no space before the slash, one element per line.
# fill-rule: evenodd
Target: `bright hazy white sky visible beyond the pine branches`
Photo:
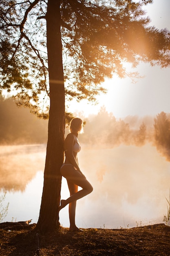
<path fill-rule="evenodd" d="M 154 0 L 153 4 L 148 4 L 145 9 L 151 19 L 150 25 L 155 25 L 158 29 L 165 27 L 170 29 L 169 0 Z M 97 105 L 87 101 L 81 103 L 73 101 L 69 111 L 83 112 L 87 117 L 90 114 L 97 114 L 101 106 L 105 106 L 106 110 L 113 112 L 117 118 L 128 115 L 155 116 L 161 111 L 170 112 L 170 68 L 162 69 L 159 66 L 151 67 L 142 63 L 136 71 L 144 78 L 132 83 L 130 78 L 119 79 L 114 75 L 111 80 L 104 82 L 103 85 L 108 92 L 97 98 L 99 102 Z"/>

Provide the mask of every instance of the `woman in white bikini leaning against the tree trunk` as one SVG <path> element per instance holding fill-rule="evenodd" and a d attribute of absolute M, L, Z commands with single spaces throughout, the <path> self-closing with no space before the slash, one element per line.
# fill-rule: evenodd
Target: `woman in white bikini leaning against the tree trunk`
<path fill-rule="evenodd" d="M 80 171 L 78 164 L 77 153 L 81 147 L 77 137 L 81 132 L 83 132 L 83 121 L 75 117 L 71 120 L 70 133 L 64 141 L 65 162 L 60 169 L 62 176 L 67 180 L 70 197 L 61 200 L 59 211 L 69 204 L 70 231 L 80 230 L 75 225 L 76 201 L 93 191 L 93 187 Z M 82 190 L 78 191 L 78 186 L 82 187 Z"/>

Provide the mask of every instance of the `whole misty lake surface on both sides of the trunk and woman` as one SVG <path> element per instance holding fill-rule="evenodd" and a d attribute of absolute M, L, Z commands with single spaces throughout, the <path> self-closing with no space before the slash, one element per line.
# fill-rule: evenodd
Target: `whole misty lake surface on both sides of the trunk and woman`
<path fill-rule="evenodd" d="M 5 221 L 39 217 L 46 145 L 0 146 L 0 194 L 9 202 Z M 82 145 L 79 165 L 93 192 L 77 201 L 76 224 L 82 228 L 126 228 L 163 222 L 170 189 L 170 162 L 154 146 Z M 62 179 L 61 198 L 69 196 Z M 60 224 L 69 226 L 68 206 Z"/>

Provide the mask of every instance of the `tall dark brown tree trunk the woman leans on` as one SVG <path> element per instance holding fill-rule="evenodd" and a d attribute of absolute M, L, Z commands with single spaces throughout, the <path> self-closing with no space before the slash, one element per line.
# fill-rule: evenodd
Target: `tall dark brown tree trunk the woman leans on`
<path fill-rule="evenodd" d="M 44 170 L 44 187 L 37 229 L 54 231 L 60 225 L 60 167 L 64 158 L 65 92 L 62 65 L 60 0 L 48 0 L 46 13 L 47 51 L 50 82 L 49 130 Z"/>

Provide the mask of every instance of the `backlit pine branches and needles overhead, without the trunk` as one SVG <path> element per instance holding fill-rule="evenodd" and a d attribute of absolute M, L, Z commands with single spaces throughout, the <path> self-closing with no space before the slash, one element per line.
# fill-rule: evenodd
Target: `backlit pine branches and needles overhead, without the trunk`
<path fill-rule="evenodd" d="M 61 37 L 66 99 L 95 100 L 105 78 L 128 74 L 124 63 L 167 67 L 170 33 L 149 25 L 150 1 L 61 0 Z M 49 111 L 46 11 L 48 0 L 0 3 L 0 90 L 18 104 Z"/>

